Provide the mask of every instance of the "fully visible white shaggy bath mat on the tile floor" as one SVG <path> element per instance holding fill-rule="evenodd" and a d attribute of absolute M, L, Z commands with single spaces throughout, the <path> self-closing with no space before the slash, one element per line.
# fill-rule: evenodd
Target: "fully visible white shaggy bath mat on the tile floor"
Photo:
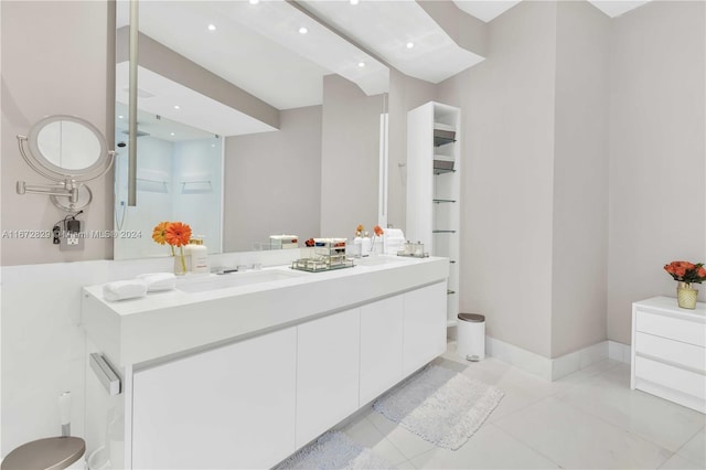
<path fill-rule="evenodd" d="M 429 365 L 378 398 L 373 408 L 422 439 L 456 450 L 504 395 L 495 386 Z"/>

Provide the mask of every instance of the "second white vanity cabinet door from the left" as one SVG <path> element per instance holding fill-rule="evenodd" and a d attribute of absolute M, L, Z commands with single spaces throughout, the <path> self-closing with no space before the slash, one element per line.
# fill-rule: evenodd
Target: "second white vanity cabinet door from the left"
<path fill-rule="evenodd" d="M 357 409 L 360 309 L 297 327 L 297 447 Z"/>

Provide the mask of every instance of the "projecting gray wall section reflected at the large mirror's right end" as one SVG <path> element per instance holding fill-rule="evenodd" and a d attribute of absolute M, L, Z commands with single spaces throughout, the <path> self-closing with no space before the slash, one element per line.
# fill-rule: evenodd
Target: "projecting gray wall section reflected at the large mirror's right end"
<path fill-rule="evenodd" d="M 338 75 L 323 77 L 320 236 L 355 236 L 377 224 L 382 95 Z"/>

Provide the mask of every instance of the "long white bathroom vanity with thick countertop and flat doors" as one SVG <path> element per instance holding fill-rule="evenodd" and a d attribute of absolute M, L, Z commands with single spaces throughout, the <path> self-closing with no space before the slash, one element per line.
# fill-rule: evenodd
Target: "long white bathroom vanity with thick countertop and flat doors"
<path fill-rule="evenodd" d="M 377 256 L 119 302 L 86 287 L 83 324 L 122 381 L 114 468 L 272 467 L 446 350 L 448 271 L 447 258 Z"/>

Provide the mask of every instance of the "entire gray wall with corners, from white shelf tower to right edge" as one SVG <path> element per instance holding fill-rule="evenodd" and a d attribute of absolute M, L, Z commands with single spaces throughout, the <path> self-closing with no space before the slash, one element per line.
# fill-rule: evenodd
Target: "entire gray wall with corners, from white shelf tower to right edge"
<path fill-rule="evenodd" d="M 704 8 L 522 2 L 439 86 L 463 119 L 461 310 L 491 337 L 629 344 L 630 303 L 674 297 L 662 266 L 706 258 Z"/>

